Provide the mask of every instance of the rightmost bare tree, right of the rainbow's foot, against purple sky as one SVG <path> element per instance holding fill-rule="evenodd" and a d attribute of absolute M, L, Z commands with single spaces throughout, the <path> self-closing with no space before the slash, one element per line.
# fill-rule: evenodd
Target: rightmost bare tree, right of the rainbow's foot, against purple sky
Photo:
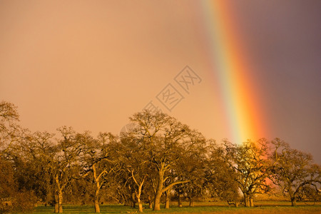
<path fill-rule="evenodd" d="M 310 154 L 290 148 L 290 146 L 275 138 L 272 141 L 275 151 L 270 158 L 275 161 L 270 176 L 273 183 L 277 184 L 284 195 L 288 195 L 292 206 L 295 206 L 300 195 L 308 189 L 318 192 L 320 187 L 320 165 L 312 163 Z M 302 197 L 302 196 L 301 196 Z"/>

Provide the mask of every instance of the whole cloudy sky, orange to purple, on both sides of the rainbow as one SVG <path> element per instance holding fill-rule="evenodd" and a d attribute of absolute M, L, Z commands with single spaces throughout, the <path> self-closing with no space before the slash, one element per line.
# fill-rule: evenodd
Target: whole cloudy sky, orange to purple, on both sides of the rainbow
<path fill-rule="evenodd" d="M 261 137 L 282 138 L 320 163 L 321 1 L 224 2 L 260 104 Z M 16 104 L 31 131 L 119 133 L 152 103 L 208 138 L 232 138 L 210 66 L 219 59 L 208 56 L 215 16 L 205 16 L 207 5 L 0 0 L 0 100 Z M 175 81 L 181 72 L 195 77 L 188 91 Z"/>

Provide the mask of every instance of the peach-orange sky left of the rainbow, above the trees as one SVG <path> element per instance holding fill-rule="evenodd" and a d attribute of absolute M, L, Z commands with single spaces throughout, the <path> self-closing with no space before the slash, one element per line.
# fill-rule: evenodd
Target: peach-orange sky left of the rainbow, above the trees
<path fill-rule="evenodd" d="M 214 96 L 210 73 L 195 32 L 199 18 L 190 6 L 170 1 L 2 5 L 1 98 L 19 106 L 21 122 L 31 130 L 67 125 L 118 133 L 189 65 L 203 82 L 184 94 L 173 114 L 195 128 L 207 126 L 204 132 L 211 135 L 215 122 L 209 118 L 220 114 L 215 99 L 208 99 Z"/>

